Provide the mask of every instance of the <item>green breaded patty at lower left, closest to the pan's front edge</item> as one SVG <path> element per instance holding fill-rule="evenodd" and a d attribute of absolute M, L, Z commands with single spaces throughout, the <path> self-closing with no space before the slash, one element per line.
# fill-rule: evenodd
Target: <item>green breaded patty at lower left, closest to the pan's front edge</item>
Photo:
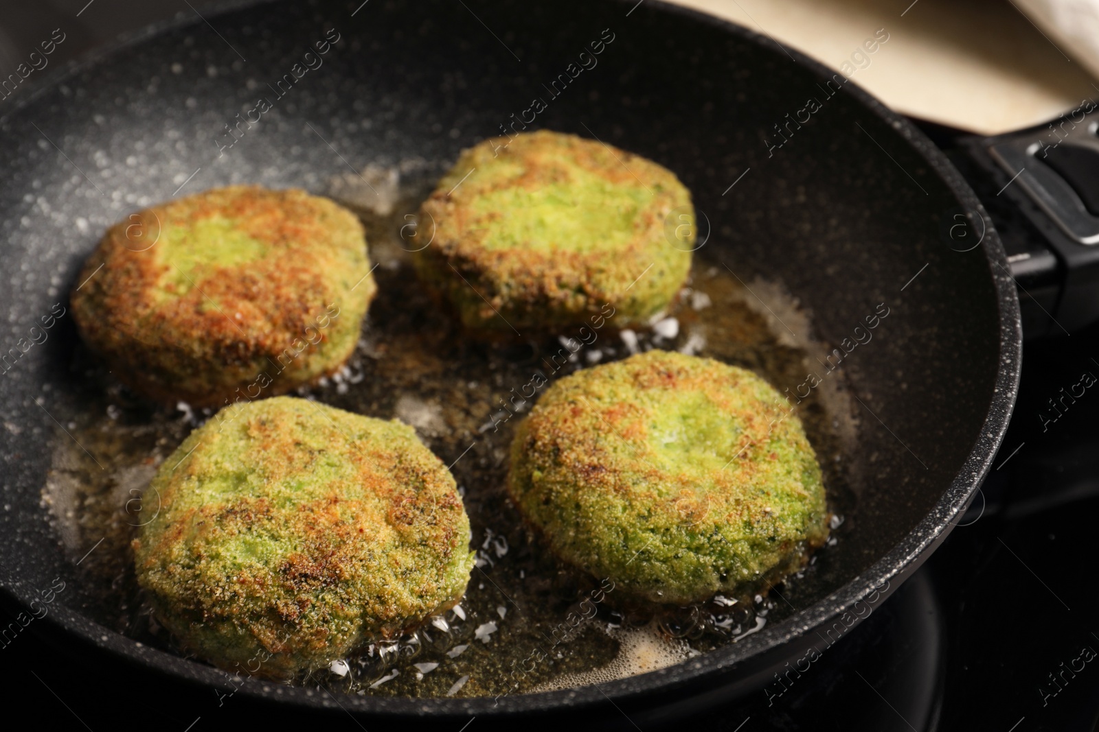
<path fill-rule="evenodd" d="M 453 607 L 473 566 L 454 478 L 412 428 L 304 399 L 222 410 L 148 491 L 138 582 L 231 671 L 286 677 L 392 638 Z"/>

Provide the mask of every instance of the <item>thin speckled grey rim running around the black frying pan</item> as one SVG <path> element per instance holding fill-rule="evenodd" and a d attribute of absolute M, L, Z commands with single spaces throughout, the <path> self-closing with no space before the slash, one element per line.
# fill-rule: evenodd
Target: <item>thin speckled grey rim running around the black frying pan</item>
<path fill-rule="evenodd" d="M 273 3 L 276 0 L 227 0 L 208 13 L 207 18 L 222 15 L 235 10 Z M 633 0 L 606 0 L 608 4 L 622 8 L 635 5 Z M 739 40 L 767 48 L 777 45 L 769 36 L 756 33 L 751 29 L 730 21 L 703 13 L 690 8 L 675 5 L 663 0 L 650 0 L 650 7 L 656 12 L 671 13 L 696 23 L 713 26 Z M 69 61 L 43 79 L 42 83 L 11 109 L 0 116 L 0 126 L 5 126 L 10 119 L 31 105 L 44 93 L 53 90 L 66 79 L 95 67 L 100 61 L 114 56 L 119 50 L 146 42 L 169 30 L 198 24 L 199 19 L 177 15 L 173 19 L 145 26 L 142 30 L 120 36 L 118 41 L 100 47 L 80 59 Z M 798 64 L 806 66 L 811 72 L 828 77 L 832 70 L 823 64 L 810 58 L 792 47 L 782 46 Z M 536 694 L 508 695 L 493 701 L 492 697 L 473 698 L 439 698 L 439 697 L 358 697 L 351 695 L 318 695 L 312 689 L 291 687 L 253 678 L 243 679 L 237 690 L 246 696 L 289 702 L 300 707 L 344 709 L 345 711 L 374 714 L 378 717 L 422 718 L 465 718 L 474 716 L 510 717 L 530 712 L 577 710 L 590 707 L 607 699 L 635 700 L 644 695 L 667 692 L 681 688 L 702 678 L 713 678 L 730 674 L 745 662 L 763 655 L 762 652 L 781 646 L 802 637 L 811 629 L 840 617 L 858 601 L 876 589 L 880 592 L 884 583 L 890 583 L 889 589 L 882 596 L 896 589 L 903 578 L 937 548 L 954 528 L 952 519 L 959 516 L 975 496 L 985 475 L 989 472 L 997 450 L 1007 431 L 1019 388 L 1022 363 L 1022 325 L 1019 312 L 1019 300 L 1014 281 L 1007 272 L 1007 255 L 998 233 L 991 221 L 957 169 L 946 156 L 910 121 L 887 109 L 880 101 L 869 94 L 853 81 L 844 85 L 845 93 L 853 94 L 855 100 L 868 112 L 889 124 L 915 149 L 921 158 L 931 167 L 932 172 L 946 185 L 953 198 L 967 211 L 980 215 L 986 223 L 986 236 L 981 241 L 981 251 L 989 263 L 992 286 L 998 305 L 999 326 L 999 362 L 992 396 L 988 413 L 969 455 L 955 474 L 948 487 L 935 503 L 935 506 L 909 531 L 896 545 L 880 556 L 870 567 L 848 581 L 828 597 L 818 600 L 803 610 L 796 612 L 781 623 L 764 628 L 743 642 L 733 643 L 696 658 L 682 661 L 637 676 L 589 685 L 570 689 L 544 691 Z M 20 583 L 2 587 L 5 594 L 13 596 L 24 607 L 29 606 L 30 596 L 20 592 Z M 160 651 L 125 635 L 107 629 L 89 618 L 67 607 L 58 607 L 44 620 L 48 624 L 75 634 L 103 651 L 141 664 L 152 666 L 158 672 L 186 682 L 209 686 L 224 686 L 227 674 L 213 666 L 206 665 L 184 656 Z"/>

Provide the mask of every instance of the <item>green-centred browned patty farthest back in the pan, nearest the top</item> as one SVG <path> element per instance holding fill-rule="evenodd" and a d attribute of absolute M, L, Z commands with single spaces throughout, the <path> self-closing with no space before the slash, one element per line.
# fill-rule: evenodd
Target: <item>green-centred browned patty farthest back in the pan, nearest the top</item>
<path fill-rule="evenodd" d="M 501 243 L 501 225 L 529 206 L 482 211 L 480 204 L 513 192 L 517 201 L 531 196 L 531 206 L 544 209 L 548 219 L 575 213 L 568 202 L 537 200 L 553 185 L 569 189 L 574 203 L 603 196 L 631 207 L 621 216 L 602 212 L 604 219 L 622 218 L 618 230 L 600 217 L 592 222 L 599 232 L 622 234 L 621 240 L 600 246 L 585 240 L 586 227 L 577 235 L 551 224 L 534 238 Z M 679 209 L 692 212 L 687 189 L 641 156 L 546 131 L 487 139 L 463 153 L 423 203 L 421 221 L 434 223 L 434 239 L 417 255 L 417 267 L 468 327 L 552 329 L 608 303 L 619 313 L 615 325 L 625 327 L 666 307 L 686 279 L 690 252 L 666 235 L 668 216 Z"/>

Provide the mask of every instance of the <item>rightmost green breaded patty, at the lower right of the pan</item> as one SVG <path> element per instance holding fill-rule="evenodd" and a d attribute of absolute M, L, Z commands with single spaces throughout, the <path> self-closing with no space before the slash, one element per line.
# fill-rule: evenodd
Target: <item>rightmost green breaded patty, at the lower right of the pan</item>
<path fill-rule="evenodd" d="M 555 382 L 515 431 L 508 492 L 560 560 L 650 603 L 739 596 L 829 533 L 815 453 L 781 396 L 659 350 Z"/>

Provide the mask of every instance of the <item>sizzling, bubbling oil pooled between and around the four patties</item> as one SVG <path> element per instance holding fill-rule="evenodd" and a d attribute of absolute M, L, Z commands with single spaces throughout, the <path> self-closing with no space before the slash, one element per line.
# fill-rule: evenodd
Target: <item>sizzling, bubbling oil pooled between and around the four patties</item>
<path fill-rule="evenodd" d="M 719 596 L 687 608 L 617 609 L 612 584 L 559 566 L 524 529 L 504 492 L 513 428 L 532 404 L 521 395 L 531 393 L 535 373 L 552 382 L 656 347 L 752 369 L 792 394 L 808 370 L 820 371 L 812 363 L 823 353 L 809 340 L 808 319 L 797 303 L 761 280 L 745 285 L 725 266 L 735 268 L 733 262 L 710 258 L 717 255 L 711 245 L 695 254 L 690 281 L 667 313 L 674 325 L 668 320 L 652 333 L 619 333 L 611 317 L 584 334 L 577 329 L 510 344 L 473 340 L 423 292 L 410 266 L 413 247 L 406 243 L 414 239 L 400 235 L 408 224 L 403 212 L 415 210 L 423 183 L 399 193 L 380 214 L 356 209 L 378 263 L 379 294 L 348 367 L 300 394 L 415 427 L 452 465 L 478 566 L 458 608 L 297 683 L 360 695 L 430 697 L 522 694 L 610 680 L 733 643 L 815 599 L 813 561 L 775 593 Z M 74 559 L 95 548 L 79 567 L 86 594 L 93 598 L 84 612 L 179 653 L 142 601 L 129 543 L 137 526 L 155 520 L 155 497 L 143 499 L 143 488 L 210 415 L 134 397 L 81 347 L 70 372 L 71 384 L 59 390 L 67 394 L 66 413 L 57 416 L 71 437 L 58 431 L 54 440 L 43 500 Z M 842 459 L 853 435 L 845 393 L 836 372 L 797 406 L 824 470 L 830 508 L 841 516 L 853 502 Z M 834 530 L 830 543 L 842 540 L 843 530 Z"/>

